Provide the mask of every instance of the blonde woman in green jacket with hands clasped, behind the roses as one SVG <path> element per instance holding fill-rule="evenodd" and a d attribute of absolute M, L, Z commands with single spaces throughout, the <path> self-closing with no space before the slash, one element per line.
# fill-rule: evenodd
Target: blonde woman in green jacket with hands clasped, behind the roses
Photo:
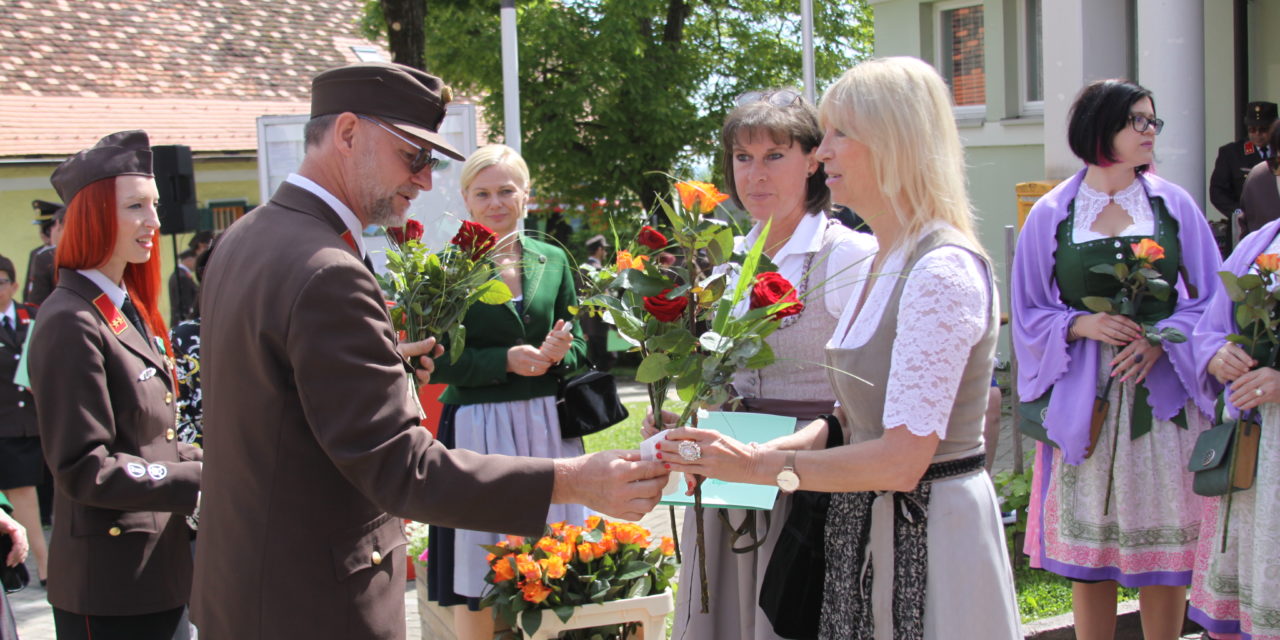
<path fill-rule="evenodd" d="M 435 361 L 431 380 L 449 385 L 440 396 L 445 408 L 438 436 L 448 447 L 480 453 L 580 456 L 582 440 L 562 439 L 556 415 L 558 378 L 586 364 L 586 342 L 570 312 L 577 305 L 573 264 L 563 250 L 520 230 L 529 168 L 513 148 L 489 145 L 472 154 L 462 166 L 462 197 L 471 219 L 498 236 L 494 260 L 513 300 L 471 307 L 461 357 Z M 547 521 L 581 525 L 588 515 L 580 504 L 552 504 Z M 479 608 L 489 571 L 480 545 L 502 539 L 431 527 L 428 596 L 453 607 L 460 640 L 494 636 L 492 613 Z"/>

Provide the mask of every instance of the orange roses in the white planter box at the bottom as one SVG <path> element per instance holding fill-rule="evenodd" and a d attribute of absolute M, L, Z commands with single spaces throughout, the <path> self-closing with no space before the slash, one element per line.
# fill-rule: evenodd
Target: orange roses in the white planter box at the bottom
<path fill-rule="evenodd" d="M 485 545 L 489 552 L 485 582 L 493 588 L 481 607 L 492 605 L 512 626 L 520 616 L 521 628 L 534 634 L 543 609 L 567 622 L 575 607 L 660 594 L 676 575 L 676 545 L 671 538 L 652 543 L 643 526 L 599 516 L 589 517 L 585 526 L 548 525 L 538 540 L 507 536 L 495 545 Z M 618 637 L 618 631 L 571 631 L 562 637 L 577 637 L 572 634 Z M 625 636 L 627 630 L 621 634 Z"/>

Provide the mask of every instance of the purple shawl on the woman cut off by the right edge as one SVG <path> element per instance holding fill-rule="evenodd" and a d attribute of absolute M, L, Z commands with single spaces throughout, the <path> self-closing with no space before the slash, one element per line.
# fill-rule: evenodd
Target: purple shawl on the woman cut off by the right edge
<path fill-rule="evenodd" d="M 1280 230 L 1280 220 L 1272 220 L 1245 236 L 1231 252 L 1231 257 L 1228 257 L 1226 262 L 1222 264 L 1222 270 L 1235 275 L 1249 273 L 1253 261 L 1267 250 L 1277 230 Z M 1192 343 L 1196 346 L 1196 371 L 1199 374 L 1201 393 L 1210 398 L 1222 393 L 1222 385 L 1219 384 L 1217 378 L 1210 375 L 1208 361 L 1213 358 L 1217 349 L 1222 348 L 1228 334 L 1240 330 L 1235 325 L 1233 308 L 1234 303 L 1228 297 L 1226 289 L 1221 285 L 1215 287 L 1208 308 L 1196 324 L 1196 335 L 1192 337 Z M 1240 413 L 1230 402 L 1226 403 L 1226 411 L 1231 417 L 1238 417 Z"/>

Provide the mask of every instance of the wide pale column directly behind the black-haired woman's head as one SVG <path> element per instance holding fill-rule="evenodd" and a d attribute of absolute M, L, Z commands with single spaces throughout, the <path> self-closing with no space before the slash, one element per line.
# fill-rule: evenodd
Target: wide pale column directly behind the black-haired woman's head
<path fill-rule="evenodd" d="M 1044 0 L 1044 177 L 1061 179 L 1083 164 L 1066 145 L 1075 95 L 1089 82 L 1121 78 L 1129 69 L 1129 28 L 1124 3 Z"/>

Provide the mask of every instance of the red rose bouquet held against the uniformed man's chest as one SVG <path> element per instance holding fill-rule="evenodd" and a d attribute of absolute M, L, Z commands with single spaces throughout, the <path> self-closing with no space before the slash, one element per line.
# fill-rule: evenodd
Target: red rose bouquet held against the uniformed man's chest
<path fill-rule="evenodd" d="M 449 337 L 449 361 L 466 347 L 462 317 L 476 302 L 502 305 L 511 289 L 498 278 L 490 259 L 498 238 L 483 224 L 463 221 L 451 246 L 433 253 L 422 244 L 422 224 L 410 220 L 387 230 L 387 274 L 380 284 L 392 305 L 392 325 L 408 340 Z"/>

